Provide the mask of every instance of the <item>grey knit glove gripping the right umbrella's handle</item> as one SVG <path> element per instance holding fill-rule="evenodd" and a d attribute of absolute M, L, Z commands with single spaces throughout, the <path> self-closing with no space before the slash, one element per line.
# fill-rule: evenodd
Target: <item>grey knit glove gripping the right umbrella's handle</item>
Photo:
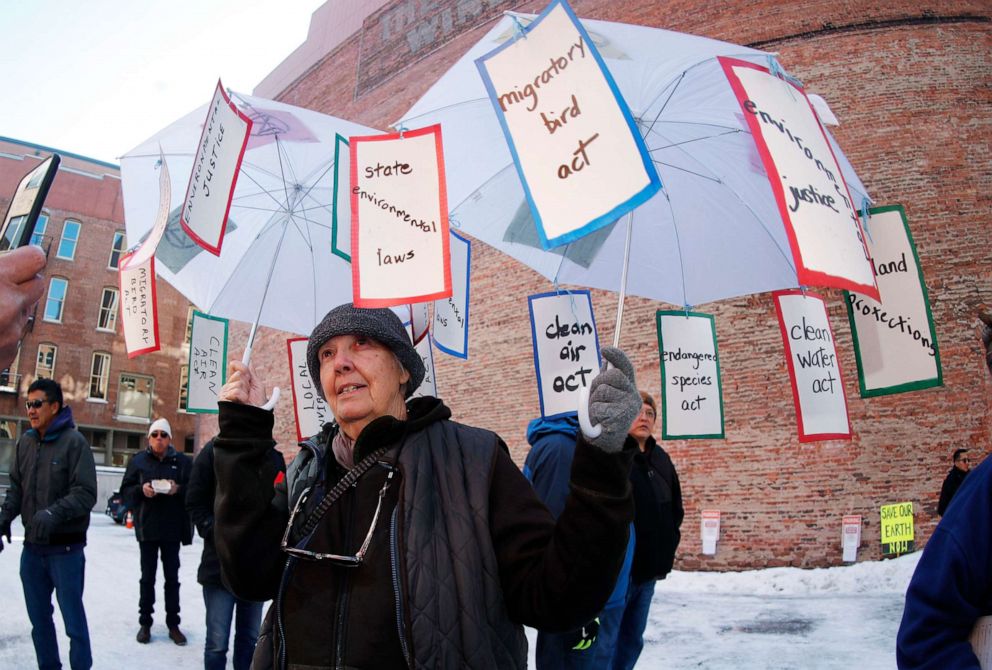
<path fill-rule="evenodd" d="M 589 420 L 603 430 L 598 437 L 586 440 L 607 453 L 616 453 L 623 449 L 630 425 L 641 411 L 641 394 L 626 354 L 616 347 L 604 347 L 603 358 L 613 367 L 606 370 L 604 364 L 589 385 Z"/>

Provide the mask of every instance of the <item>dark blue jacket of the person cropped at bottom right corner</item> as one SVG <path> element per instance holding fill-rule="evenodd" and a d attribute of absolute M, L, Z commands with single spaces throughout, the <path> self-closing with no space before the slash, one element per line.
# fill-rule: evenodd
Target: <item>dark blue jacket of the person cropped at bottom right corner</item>
<path fill-rule="evenodd" d="M 954 495 L 906 591 L 896 639 L 900 668 L 974 668 L 968 636 L 992 614 L 992 458 Z"/>

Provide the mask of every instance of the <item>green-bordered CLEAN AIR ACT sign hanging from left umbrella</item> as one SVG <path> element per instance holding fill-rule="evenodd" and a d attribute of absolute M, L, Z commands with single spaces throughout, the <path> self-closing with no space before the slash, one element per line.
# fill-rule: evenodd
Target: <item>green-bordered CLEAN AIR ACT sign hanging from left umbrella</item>
<path fill-rule="evenodd" d="M 227 382 L 227 319 L 193 311 L 189 340 L 186 410 L 217 413 L 217 396 Z"/>

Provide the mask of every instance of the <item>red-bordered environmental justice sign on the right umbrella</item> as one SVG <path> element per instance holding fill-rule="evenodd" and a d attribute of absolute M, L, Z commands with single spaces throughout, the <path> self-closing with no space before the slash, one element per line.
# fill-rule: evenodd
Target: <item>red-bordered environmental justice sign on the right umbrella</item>
<path fill-rule="evenodd" d="M 761 154 L 799 283 L 877 297 L 858 203 L 806 94 L 753 63 L 720 62 Z"/>

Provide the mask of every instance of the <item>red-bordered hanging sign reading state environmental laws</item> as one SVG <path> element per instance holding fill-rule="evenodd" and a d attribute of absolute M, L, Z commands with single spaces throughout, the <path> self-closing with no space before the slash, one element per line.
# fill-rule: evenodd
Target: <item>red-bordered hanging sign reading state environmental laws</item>
<path fill-rule="evenodd" d="M 355 306 L 451 295 L 441 127 L 349 143 Z"/>

